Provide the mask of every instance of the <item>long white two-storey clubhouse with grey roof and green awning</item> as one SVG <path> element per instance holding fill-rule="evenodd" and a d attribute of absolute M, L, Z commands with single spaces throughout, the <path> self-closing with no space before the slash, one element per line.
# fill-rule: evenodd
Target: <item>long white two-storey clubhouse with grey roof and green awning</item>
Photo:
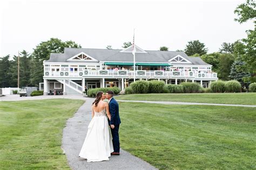
<path fill-rule="evenodd" d="M 51 53 L 44 65 L 44 95 L 51 91 L 82 94 L 87 89 L 119 87 L 124 89 L 136 80 L 161 80 L 166 84 L 198 82 L 208 87 L 218 80 L 212 65 L 184 52 L 144 51 L 136 46 L 135 71 L 133 47 L 125 49 L 65 48 L 64 53 Z M 42 87 L 42 86 L 41 86 Z"/>

